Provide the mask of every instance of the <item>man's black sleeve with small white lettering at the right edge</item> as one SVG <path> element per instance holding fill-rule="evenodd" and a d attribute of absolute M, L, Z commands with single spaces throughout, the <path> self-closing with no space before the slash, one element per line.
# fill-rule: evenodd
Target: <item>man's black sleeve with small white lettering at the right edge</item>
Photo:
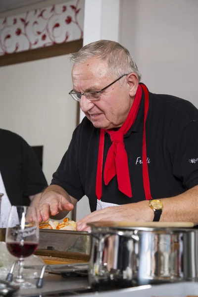
<path fill-rule="evenodd" d="M 173 174 L 187 189 L 198 185 L 198 119 L 178 131 L 172 143 Z"/>

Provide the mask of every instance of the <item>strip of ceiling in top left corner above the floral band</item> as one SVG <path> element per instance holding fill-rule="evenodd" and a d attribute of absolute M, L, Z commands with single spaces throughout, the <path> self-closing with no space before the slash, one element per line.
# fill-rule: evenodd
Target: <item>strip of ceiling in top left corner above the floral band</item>
<path fill-rule="evenodd" d="M 0 0 L 0 13 L 43 1 L 44 0 Z"/>

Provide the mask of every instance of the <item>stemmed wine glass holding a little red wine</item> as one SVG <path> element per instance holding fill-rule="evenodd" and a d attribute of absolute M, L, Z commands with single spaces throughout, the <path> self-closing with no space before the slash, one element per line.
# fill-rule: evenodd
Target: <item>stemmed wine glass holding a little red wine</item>
<path fill-rule="evenodd" d="M 24 258 L 29 257 L 39 244 L 39 222 L 36 208 L 33 206 L 12 206 L 6 228 L 5 243 L 10 254 L 18 258 L 18 275 L 15 285 L 23 288 L 31 286 L 23 277 Z M 16 263 L 16 262 L 15 262 Z M 6 280 L 12 281 L 13 263 Z"/>

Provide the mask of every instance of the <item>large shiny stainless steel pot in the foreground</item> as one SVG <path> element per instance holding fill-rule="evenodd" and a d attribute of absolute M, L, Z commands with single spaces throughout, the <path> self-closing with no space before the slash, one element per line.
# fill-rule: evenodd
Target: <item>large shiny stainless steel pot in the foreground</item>
<path fill-rule="evenodd" d="M 93 288 L 198 280 L 198 230 L 89 225 Z"/>

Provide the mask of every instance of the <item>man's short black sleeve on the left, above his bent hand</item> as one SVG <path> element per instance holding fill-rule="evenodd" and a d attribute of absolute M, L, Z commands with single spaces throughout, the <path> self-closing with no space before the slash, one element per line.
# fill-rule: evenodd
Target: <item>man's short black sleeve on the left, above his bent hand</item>
<path fill-rule="evenodd" d="M 79 147 L 73 133 L 68 150 L 53 174 L 51 185 L 62 187 L 71 197 L 80 200 L 84 195 L 79 175 Z"/>

